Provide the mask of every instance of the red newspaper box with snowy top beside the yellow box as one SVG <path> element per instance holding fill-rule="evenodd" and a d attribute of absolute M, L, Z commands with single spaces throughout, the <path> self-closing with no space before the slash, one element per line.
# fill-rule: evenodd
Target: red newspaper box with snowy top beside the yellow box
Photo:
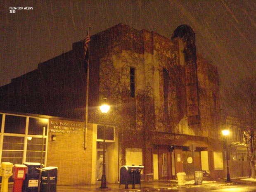
<path fill-rule="evenodd" d="M 22 182 L 25 179 L 27 166 L 14 165 L 12 168 L 13 188 L 12 192 L 21 192 Z"/>

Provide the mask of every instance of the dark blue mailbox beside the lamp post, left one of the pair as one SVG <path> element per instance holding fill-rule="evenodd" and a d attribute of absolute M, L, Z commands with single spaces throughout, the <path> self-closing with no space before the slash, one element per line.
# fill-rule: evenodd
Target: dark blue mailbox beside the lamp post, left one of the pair
<path fill-rule="evenodd" d="M 134 170 L 133 166 L 121 166 L 119 188 L 121 185 L 125 185 L 125 188 L 128 189 L 128 185 L 133 185 Z"/>

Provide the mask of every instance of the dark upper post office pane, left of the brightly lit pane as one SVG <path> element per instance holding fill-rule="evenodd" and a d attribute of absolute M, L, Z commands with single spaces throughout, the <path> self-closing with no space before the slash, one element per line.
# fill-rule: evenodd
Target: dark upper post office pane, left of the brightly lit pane
<path fill-rule="evenodd" d="M 25 134 L 26 117 L 6 115 L 5 116 L 5 133 Z"/>

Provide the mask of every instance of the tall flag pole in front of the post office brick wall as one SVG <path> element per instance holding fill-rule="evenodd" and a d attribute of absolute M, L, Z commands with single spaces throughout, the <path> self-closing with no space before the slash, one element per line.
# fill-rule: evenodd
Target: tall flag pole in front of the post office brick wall
<path fill-rule="evenodd" d="M 88 36 L 90 36 L 90 28 L 91 24 L 88 26 Z M 85 39 L 86 41 L 86 39 Z M 88 54 L 90 52 L 90 45 L 88 46 Z M 84 148 L 87 147 L 87 130 L 88 130 L 88 95 L 89 95 L 89 66 L 90 66 L 90 59 L 88 58 L 87 62 L 87 73 L 86 73 L 86 101 L 85 101 L 85 137 L 84 137 Z"/>

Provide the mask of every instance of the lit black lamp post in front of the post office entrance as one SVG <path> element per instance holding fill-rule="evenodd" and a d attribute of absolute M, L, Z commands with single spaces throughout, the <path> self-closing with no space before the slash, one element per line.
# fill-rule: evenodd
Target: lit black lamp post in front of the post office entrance
<path fill-rule="evenodd" d="M 103 103 L 100 106 L 100 111 L 104 115 L 104 125 L 103 125 L 103 165 L 102 165 L 102 177 L 101 177 L 101 189 L 107 188 L 106 183 L 106 164 L 105 164 L 105 148 L 106 148 L 106 128 L 105 128 L 105 114 L 109 111 L 110 106 L 107 104 L 107 98 L 103 99 Z"/>

